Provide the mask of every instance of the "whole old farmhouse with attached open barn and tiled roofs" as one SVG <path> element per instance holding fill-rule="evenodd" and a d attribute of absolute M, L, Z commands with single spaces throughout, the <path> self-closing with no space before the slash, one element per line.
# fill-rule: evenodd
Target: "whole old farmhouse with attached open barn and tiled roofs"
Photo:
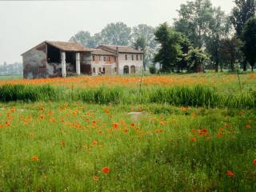
<path fill-rule="evenodd" d="M 22 61 L 24 78 L 138 74 L 143 67 L 143 52 L 129 46 L 89 49 L 78 42 L 45 41 L 23 53 Z"/>

